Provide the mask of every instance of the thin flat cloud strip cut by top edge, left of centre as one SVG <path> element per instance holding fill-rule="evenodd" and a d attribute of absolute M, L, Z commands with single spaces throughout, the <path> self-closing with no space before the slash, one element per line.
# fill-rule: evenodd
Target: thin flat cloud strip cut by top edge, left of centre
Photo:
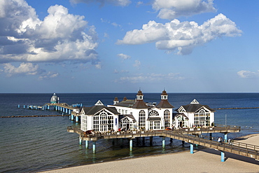
<path fill-rule="evenodd" d="M 101 6 L 106 4 L 111 4 L 113 6 L 128 6 L 132 1 L 130 0 L 70 0 L 72 4 L 79 4 L 79 3 L 99 3 Z"/>

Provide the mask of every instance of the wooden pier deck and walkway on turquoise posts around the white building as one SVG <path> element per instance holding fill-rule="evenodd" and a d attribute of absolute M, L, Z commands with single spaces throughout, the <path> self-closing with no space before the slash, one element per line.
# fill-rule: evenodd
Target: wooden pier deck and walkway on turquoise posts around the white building
<path fill-rule="evenodd" d="M 233 141 L 232 144 L 228 144 L 227 139 L 223 143 L 219 144 L 217 138 L 211 137 L 211 133 L 220 132 L 225 135 L 230 132 L 240 132 L 239 126 L 227 127 L 208 127 L 200 129 L 181 129 L 181 130 L 145 130 L 139 132 L 97 132 L 94 134 L 85 134 L 82 130 L 77 127 L 67 127 L 67 132 L 75 132 L 80 134 L 80 144 L 85 141 L 85 146 L 88 148 L 88 141 L 93 142 L 93 152 L 95 153 L 95 141 L 99 139 L 130 139 L 130 151 L 132 151 L 132 139 L 136 137 L 162 137 L 162 147 L 165 148 L 165 137 L 171 139 L 178 139 L 190 143 L 190 153 L 193 153 L 193 145 L 205 146 L 208 148 L 214 148 L 215 150 L 221 151 L 221 161 L 225 161 L 225 152 L 234 153 L 237 155 L 243 155 L 248 158 L 254 158 L 259 160 L 259 146 L 251 144 L 245 144 L 237 141 Z M 209 133 L 210 136 L 202 135 Z"/>

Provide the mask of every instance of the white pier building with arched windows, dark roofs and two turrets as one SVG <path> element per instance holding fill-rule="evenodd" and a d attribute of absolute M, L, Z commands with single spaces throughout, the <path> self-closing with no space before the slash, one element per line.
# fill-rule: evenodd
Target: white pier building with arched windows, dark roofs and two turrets
<path fill-rule="evenodd" d="M 119 101 L 115 97 L 112 105 L 104 106 L 98 101 L 92 107 L 80 111 L 81 130 L 105 132 L 108 130 L 164 130 L 165 127 L 209 126 L 214 123 L 214 110 L 199 104 L 196 99 L 188 105 L 174 106 L 168 102 L 168 95 L 162 91 L 159 104 L 144 102 L 139 90 L 136 99 Z"/>

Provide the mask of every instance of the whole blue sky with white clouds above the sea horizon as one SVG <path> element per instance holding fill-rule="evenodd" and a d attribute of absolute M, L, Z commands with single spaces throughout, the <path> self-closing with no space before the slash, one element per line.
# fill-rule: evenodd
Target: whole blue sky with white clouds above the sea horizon
<path fill-rule="evenodd" d="M 0 93 L 259 92 L 258 0 L 0 0 Z"/>

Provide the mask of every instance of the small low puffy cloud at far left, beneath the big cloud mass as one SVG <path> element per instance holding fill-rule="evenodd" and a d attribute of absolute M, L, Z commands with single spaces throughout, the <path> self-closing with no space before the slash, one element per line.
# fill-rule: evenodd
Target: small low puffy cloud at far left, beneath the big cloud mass
<path fill-rule="evenodd" d="M 13 75 L 36 75 L 41 74 L 43 70 L 38 68 L 38 64 L 32 64 L 30 62 L 25 63 L 22 62 L 19 67 L 15 67 L 10 63 L 3 64 L 3 71 L 6 73 L 7 76 Z"/>

